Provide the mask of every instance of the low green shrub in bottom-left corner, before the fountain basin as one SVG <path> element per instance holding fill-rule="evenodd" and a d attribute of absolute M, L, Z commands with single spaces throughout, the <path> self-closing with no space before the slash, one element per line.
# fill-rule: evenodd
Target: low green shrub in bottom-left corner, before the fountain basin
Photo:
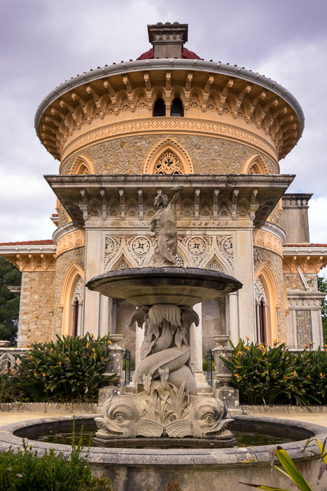
<path fill-rule="evenodd" d="M 69 461 L 53 449 L 38 456 L 24 440 L 17 454 L 12 449 L 0 453 L 1 491 L 111 491 L 108 478 L 92 476 L 88 454 L 81 456 L 81 438 L 82 433 L 77 443 L 74 439 Z"/>

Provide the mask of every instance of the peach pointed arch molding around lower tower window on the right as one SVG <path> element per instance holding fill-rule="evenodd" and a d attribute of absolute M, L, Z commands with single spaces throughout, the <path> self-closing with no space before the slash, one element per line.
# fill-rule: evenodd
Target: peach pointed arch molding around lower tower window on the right
<path fill-rule="evenodd" d="M 277 283 L 272 274 L 272 270 L 266 262 L 260 264 L 254 273 L 254 281 L 260 278 L 265 289 L 267 299 L 267 340 L 272 346 L 274 339 L 277 339 L 277 311 L 280 309 L 279 294 Z"/>

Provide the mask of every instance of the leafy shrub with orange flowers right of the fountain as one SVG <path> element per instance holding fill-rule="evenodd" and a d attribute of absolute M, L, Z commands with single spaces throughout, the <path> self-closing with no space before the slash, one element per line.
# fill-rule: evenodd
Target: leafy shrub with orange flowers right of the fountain
<path fill-rule="evenodd" d="M 270 347 L 239 339 L 237 347 L 230 344 L 232 357 L 221 359 L 232 374 L 231 383 L 239 390 L 242 403 L 302 405 L 312 399 L 318 401 L 306 391 L 307 383 L 297 370 L 296 356 L 284 343 L 277 346 L 275 342 Z"/>

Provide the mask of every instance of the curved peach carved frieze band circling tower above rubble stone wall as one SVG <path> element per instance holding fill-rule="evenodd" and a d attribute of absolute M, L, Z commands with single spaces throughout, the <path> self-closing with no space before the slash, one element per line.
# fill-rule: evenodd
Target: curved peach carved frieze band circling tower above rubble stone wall
<path fill-rule="evenodd" d="M 241 128 L 237 124 L 232 125 L 220 121 L 210 121 L 195 118 L 144 118 L 120 121 L 106 124 L 78 135 L 63 147 L 61 161 L 66 161 L 74 152 L 84 149 L 92 144 L 132 135 L 165 133 L 176 135 L 196 134 L 211 137 L 220 137 L 242 144 L 247 144 L 256 151 L 265 153 L 278 165 L 278 152 L 265 138 L 256 135 L 250 130 Z"/>

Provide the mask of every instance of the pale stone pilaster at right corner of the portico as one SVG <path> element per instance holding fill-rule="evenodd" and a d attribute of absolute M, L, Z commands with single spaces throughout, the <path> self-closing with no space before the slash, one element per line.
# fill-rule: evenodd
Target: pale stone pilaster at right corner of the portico
<path fill-rule="evenodd" d="M 252 230 L 238 230 L 234 243 L 235 278 L 243 283 L 238 290 L 239 337 L 256 341 Z"/>

